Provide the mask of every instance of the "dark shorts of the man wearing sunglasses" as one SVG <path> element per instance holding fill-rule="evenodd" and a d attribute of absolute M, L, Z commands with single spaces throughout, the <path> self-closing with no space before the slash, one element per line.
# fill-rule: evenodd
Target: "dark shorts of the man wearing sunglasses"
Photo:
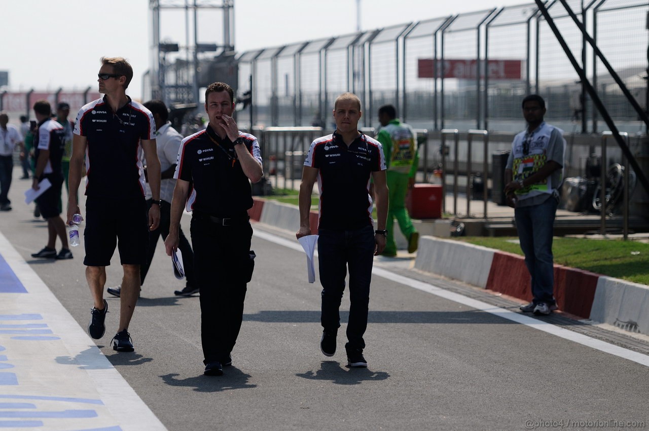
<path fill-rule="evenodd" d="M 149 246 L 149 219 L 144 197 L 88 197 L 84 224 L 84 265 L 110 265 L 116 245 L 122 265 L 145 264 Z"/>

